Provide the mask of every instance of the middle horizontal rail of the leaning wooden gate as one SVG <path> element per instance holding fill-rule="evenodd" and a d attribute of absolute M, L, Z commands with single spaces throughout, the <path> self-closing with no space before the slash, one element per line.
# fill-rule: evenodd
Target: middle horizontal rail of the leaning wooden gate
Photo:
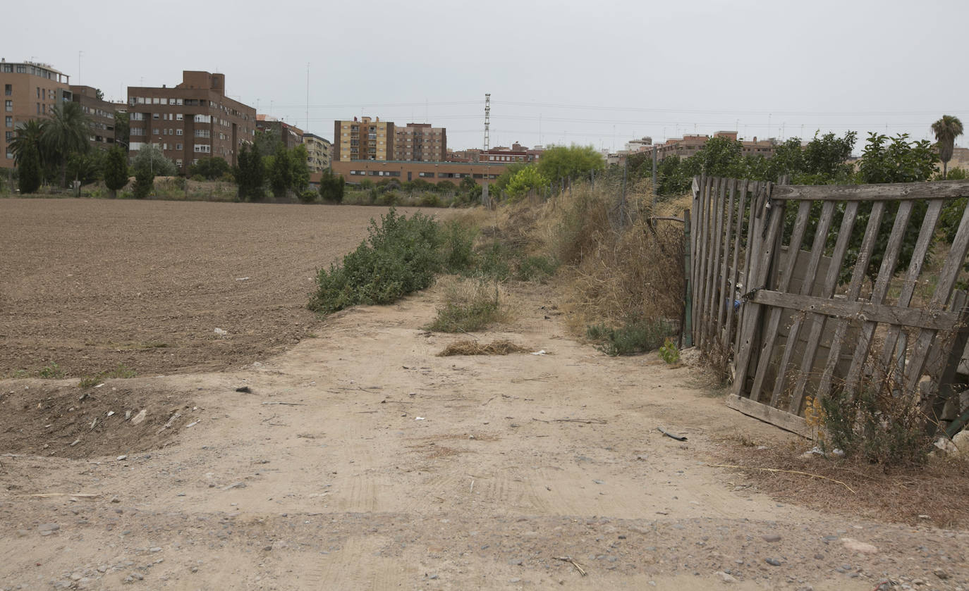
<path fill-rule="evenodd" d="M 868 322 L 885 322 L 901 324 L 931 330 L 946 330 L 952 328 L 958 319 L 958 314 L 950 310 L 926 310 L 922 308 L 902 308 L 886 304 L 872 304 L 871 302 L 833 300 L 830 298 L 787 293 L 780 290 L 761 289 L 751 300 L 755 304 L 763 304 L 787 310 L 800 310 L 835 316 L 837 318 L 862 319 Z"/>

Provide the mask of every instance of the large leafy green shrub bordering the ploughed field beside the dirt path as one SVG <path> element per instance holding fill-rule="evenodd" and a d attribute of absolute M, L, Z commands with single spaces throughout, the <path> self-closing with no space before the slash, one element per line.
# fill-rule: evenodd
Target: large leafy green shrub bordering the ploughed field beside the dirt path
<path fill-rule="evenodd" d="M 438 223 L 421 213 L 410 219 L 394 209 L 370 221 L 370 236 L 340 265 L 320 270 L 309 309 L 323 313 L 359 304 L 390 304 L 428 287 L 442 269 Z"/>

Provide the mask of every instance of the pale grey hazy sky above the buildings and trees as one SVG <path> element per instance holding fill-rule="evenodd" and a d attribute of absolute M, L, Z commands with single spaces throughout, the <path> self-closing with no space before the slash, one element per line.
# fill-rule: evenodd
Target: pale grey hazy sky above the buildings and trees
<path fill-rule="evenodd" d="M 481 147 L 486 92 L 492 146 L 853 130 L 858 151 L 867 132 L 932 139 L 942 114 L 969 125 L 966 0 L 45 0 L 3 18 L 0 56 L 109 99 L 221 72 L 329 139 L 366 114 Z"/>

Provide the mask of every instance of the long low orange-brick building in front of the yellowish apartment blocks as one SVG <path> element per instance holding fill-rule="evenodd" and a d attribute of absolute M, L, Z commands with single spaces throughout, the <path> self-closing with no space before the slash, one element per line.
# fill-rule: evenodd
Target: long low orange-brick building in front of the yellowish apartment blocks
<path fill-rule="evenodd" d="M 359 184 L 367 179 L 374 183 L 396 180 L 400 183 L 422 179 L 428 183 L 450 181 L 459 184 L 470 177 L 479 185 L 494 180 L 505 171 L 504 163 L 415 163 L 407 161 L 333 162 L 333 173 L 343 175 L 347 183 Z"/>

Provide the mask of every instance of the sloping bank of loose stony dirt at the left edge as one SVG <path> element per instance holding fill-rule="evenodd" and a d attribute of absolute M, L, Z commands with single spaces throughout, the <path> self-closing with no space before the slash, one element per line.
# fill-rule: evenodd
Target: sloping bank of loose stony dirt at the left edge
<path fill-rule="evenodd" d="M 66 380 L 4 386 L 0 450 L 11 454 L 93 458 L 143 452 L 164 447 L 200 415 L 192 393 L 139 379 L 86 389 Z"/>

